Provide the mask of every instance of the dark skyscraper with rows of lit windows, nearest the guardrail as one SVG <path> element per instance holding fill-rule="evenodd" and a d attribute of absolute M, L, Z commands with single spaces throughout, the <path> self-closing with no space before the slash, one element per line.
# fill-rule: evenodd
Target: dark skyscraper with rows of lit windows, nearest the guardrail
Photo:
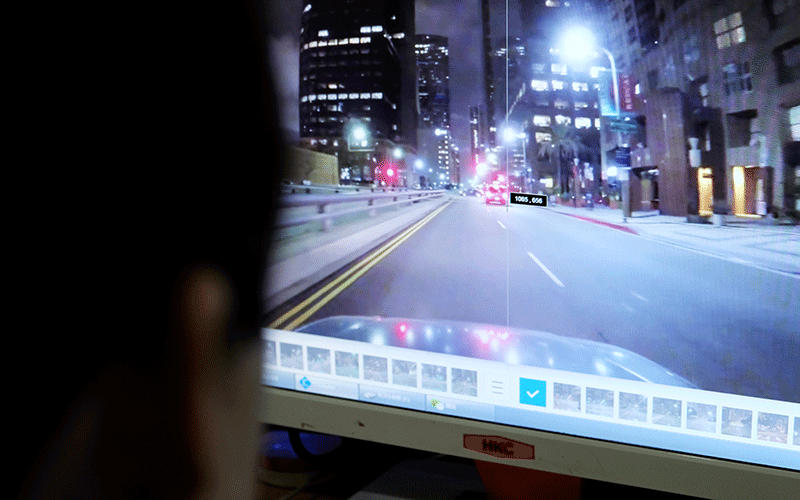
<path fill-rule="evenodd" d="M 336 153 L 343 180 L 372 181 L 378 157 L 416 146 L 413 0 L 306 2 L 300 34 L 300 142 Z M 366 134 L 346 145 L 354 123 Z"/>

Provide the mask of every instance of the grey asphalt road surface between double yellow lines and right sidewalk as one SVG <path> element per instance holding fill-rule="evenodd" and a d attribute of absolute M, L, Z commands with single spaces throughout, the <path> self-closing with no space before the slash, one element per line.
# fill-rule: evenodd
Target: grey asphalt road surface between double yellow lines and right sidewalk
<path fill-rule="evenodd" d="M 342 314 L 591 339 L 703 389 L 800 402 L 800 280 L 538 207 L 454 198 L 304 322 Z"/>

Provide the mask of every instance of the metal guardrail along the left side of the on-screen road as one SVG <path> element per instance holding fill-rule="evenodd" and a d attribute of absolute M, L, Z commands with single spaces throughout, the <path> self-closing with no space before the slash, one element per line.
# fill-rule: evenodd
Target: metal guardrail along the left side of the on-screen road
<path fill-rule="evenodd" d="M 380 188 L 376 188 L 380 189 Z M 337 195 L 283 195 L 278 201 L 279 208 L 298 208 L 316 206 L 317 213 L 314 215 L 299 216 L 292 219 L 279 218 L 276 221 L 276 226 L 279 228 L 299 226 L 311 222 L 322 222 L 323 231 L 330 231 L 333 227 L 333 220 L 345 215 L 352 215 L 360 212 L 368 212 L 370 217 L 377 213 L 378 208 L 398 206 L 402 204 L 417 203 L 423 200 L 429 200 L 444 196 L 445 191 L 418 191 L 407 190 L 403 192 L 378 192 L 378 193 L 364 193 L 352 194 L 348 196 Z M 386 200 L 385 203 L 378 203 L 376 201 Z M 341 203 L 366 203 L 364 206 L 357 206 L 346 208 L 343 210 L 333 211 L 332 207 Z"/>

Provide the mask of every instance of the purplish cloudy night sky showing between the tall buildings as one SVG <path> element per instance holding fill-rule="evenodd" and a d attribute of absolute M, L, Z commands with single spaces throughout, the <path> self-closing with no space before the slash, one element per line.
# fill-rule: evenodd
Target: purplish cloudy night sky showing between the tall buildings
<path fill-rule="evenodd" d="M 505 36 L 506 0 L 490 0 L 492 37 Z M 298 137 L 299 117 L 299 37 L 300 14 L 305 0 L 269 2 L 272 20 L 270 47 L 273 68 L 281 94 L 283 128 L 287 137 Z M 519 33 L 517 0 L 509 0 L 509 33 Z M 480 0 L 417 0 L 418 34 L 442 35 L 449 39 L 450 54 L 450 125 L 462 158 L 469 148 L 469 107 L 483 103 L 482 27 Z"/>

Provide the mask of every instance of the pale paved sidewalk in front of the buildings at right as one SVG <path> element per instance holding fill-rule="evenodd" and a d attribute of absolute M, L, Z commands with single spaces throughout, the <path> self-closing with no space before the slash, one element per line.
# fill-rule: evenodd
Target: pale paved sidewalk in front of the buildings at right
<path fill-rule="evenodd" d="M 660 215 L 658 212 L 633 212 L 633 217 L 623 221 L 621 210 L 602 206 L 588 209 L 550 205 L 547 210 L 800 278 L 800 226 L 762 225 L 758 220 L 748 219 L 713 226 L 689 223 L 686 217 Z"/>

